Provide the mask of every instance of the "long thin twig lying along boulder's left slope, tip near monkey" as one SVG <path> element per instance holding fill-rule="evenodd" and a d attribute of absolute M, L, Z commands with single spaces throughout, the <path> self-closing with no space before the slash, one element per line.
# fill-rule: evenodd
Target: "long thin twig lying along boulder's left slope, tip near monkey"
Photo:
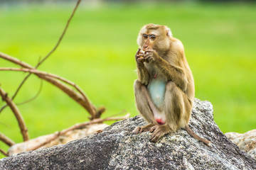
<path fill-rule="evenodd" d="M 36 149 L 38 149 L 40 147 L 43 147 L 43 145 L 46 145 L 46 144 L 50 143 L 51 141 L 53 141 L 56 138 L 58 138 L 60 135 L 64 135 L 65 133 L 69 132 L 70 130 L 85 128 L 87 125 L 92 125 L 92 124 L 95 124 L 95 123 L 102 123 L 102 122 L 108 121 L 108 120 L 122 120 L 122 119 L 129 118 L 129 116 L 130 116 L 130 114 L 127 113 L 126 115 L 124 115 L 122 117 L 112 117 L 112 118 L 110 117 L 110 118 L 105 118 L 105 119 L 98 118 L 98 119 L 91 120 L 90 122 L 80 123 L 78 125 L 73 125 L 72 127 L 68 128 L 68 129 L 61 130 L 60 132 L 55 132 L 55 135 L 53 137 L 51 137 L 48 140 L 46 140 L 46 142 L 43 142 L 43 143 L 39 144 L 36 147 L 33 147 L 30 150 L 32 151 L 32 150 L 36 150 Z"/>

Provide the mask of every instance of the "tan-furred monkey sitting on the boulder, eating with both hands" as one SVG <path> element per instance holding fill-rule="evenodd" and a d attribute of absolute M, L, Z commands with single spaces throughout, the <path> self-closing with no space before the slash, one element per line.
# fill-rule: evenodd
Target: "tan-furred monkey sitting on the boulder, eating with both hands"
<path fill-rule="evenodd" d="M 138 79 L 134 81 L 135 103 L 148 125 L 137 127 L 134 134 L 149 131 L 150 141 L 178 129 L 210 146 L 189 127 L 195 86 L 185 57 L 183 44 L 167 26 L 147 24 L 137 38 L 135 55 Z"/>

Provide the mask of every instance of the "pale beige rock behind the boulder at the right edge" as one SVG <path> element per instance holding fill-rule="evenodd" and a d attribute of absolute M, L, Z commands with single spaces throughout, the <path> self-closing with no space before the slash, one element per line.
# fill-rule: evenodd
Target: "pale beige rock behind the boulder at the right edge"
<path fill-rule="evenodd" d="M 250 154 L 256 159 L 256 129 L 250 130 L 243 134 L 237 132 L 227 132 L 226 137 L 230 139 L 235 145 L 242 150 Z"/>

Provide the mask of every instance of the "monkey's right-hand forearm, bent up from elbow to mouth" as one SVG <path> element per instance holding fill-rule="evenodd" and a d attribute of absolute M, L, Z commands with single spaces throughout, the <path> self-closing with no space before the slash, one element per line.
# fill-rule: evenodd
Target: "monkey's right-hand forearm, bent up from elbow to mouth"
<path fill-rule="evenodd" d="M 162 57 L 160 57 L 155 50 L 146 50 L 146 52 L 149 52 L 145 59 L 149 60 L 149 62 L 153 61 L 156 64 L 156 68 L 164 74 L 166 77 L 167 81 L 174 81 L 174 83 L 181 88 L 182 91 L 186 91 L 187 89 L 187 84 L 188 80 L 186 79 L 186 74 L 185 71 L 182 67 L 178 66 L 174 62 L 167 62 L 164 60 Z M 171 55 L 171 54 L 169 54 Z M 175 58 L 176 60 L 181 60 L 178 54 L 173 54 L 176 55 Z"/>

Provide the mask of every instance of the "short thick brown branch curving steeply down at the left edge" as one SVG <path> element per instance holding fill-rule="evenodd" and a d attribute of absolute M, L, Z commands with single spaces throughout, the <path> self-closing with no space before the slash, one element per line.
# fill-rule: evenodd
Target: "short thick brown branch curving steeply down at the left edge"
<path fill-rule="evenodd" d="M 1 87 L 0 87 L 0 96 L 3 99 L 3 101 L 6 101 L 7 105 L 11 108 L 11 111 L 13 111 L 13 113 L 18 121 L 18 126 L 21 129 L 23 141 L 27 141 L 28 140 L 28 129 L 26 128 L 26 125 L 21 116 L 21 113 L 18 111 L 18 108 L 16 107 L 14 102 L 11 101 L 11 98 L 9 98 L 6 94 L 6 92 L 3 89 L 1 89 Z"/>

